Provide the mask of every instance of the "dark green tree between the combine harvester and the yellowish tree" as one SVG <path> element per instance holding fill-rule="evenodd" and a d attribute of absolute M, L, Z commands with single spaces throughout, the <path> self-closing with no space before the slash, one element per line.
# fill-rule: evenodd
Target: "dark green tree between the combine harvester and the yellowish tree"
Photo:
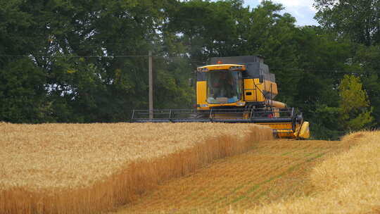
<path fill-rule="evenodd" d="M 284 78 L 298 78 L 292 106 L 300 108 L 311 122 L 312 136 L 338 139 L 340 126 L 338 84 L 344 72 L 350 72 L 348 59 L 353 47 L 347 39 L 334 39 L 321 27 L 305 26 L 296 32 L 298 73 Z M 289 68 L 291 70 L 292 68 Z M 287 70 L 285 70 L 287 71 Z"/>

